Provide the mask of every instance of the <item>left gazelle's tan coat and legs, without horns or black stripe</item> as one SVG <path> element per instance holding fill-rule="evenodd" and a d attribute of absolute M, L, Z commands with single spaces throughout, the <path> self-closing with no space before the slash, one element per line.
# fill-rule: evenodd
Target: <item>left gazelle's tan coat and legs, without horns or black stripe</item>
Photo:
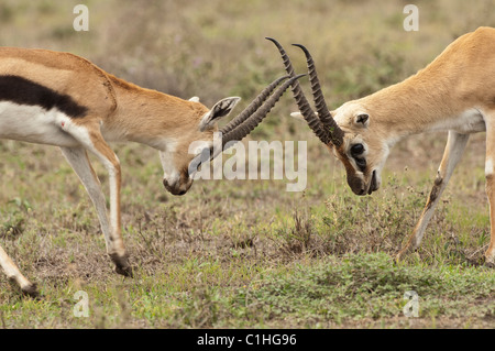
<path fill-rule="evenodd" d="M 106 238 L 107 253 L 114 262 L 117 272 L 132 275 L 121 235 L 121 167 L 108 142 L 139 142 L 161 151 L 166 157 L 166 165 L 162 162 L 164 172 L 165 166 L 170 172 L 169 175 L 165 172 L 167 177 L 164 176 L 164 186 L 174 195 L 183 195 L 193 184 L 188 165 L 195 154 L 189 153 L 189 145 L 195 141 L 212 144 L 213 132 L 218 130 L 217 119 L 227 116 L 239 98 L 224 99 L 234 102 L 229 103 L 221 116 L 208 114 L 209 118 L 205 119 L 210 110 L 197 101 L 141 88 L 103 72 L 82 57 L 46 50 L 1 47 L 2 75 L 29 79 L 59 95 L 69 96 L 78 106 L 87 109 L 84 117 L 77 118 L 53 114 L 50 117 L 53 121 L 46 122 L 52 123 L 48 127 L 43 124 L 43 121 L 47 121 L 46 116 L 36 119 L 36 123 L 42 123 L 52 133 L 50 135 L 55 135 L 57 140 L 52 140 L 52 136 L 50 140 L 40 136 L 34 138 L 35 141 L 30 139 L 33 136 L 23 132 L 22 125 L 30 123 L 29 119 L 20 122 L 22 127 L 14 130 L 14 134 L 3 134 L 2 138 L 61 146 L 95 204 Z M 61 121 L 58 125 L 53 124 L 56 118 Z M 40 122 L 40 119 L 43 121 Z M 201 130 L 200 122 L 204 123 Z M 87 151 L 94 153 L 109 173 L 109 212 Z M 0 265 L 24 293 L 36 294 L 34 285 L 20 273 L 1 246 Z"/>

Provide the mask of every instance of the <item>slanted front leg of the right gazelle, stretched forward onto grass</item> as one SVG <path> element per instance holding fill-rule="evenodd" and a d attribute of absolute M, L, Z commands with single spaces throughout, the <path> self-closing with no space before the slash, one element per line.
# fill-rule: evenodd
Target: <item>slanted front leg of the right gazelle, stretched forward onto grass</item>
<path fill-rule="evenodd" d="M 425 206 L 425 209 L 422 210 L 418 223 L 416 224 L 413 233 L 409 235 L 407 243 L 397 254 L 397 260 L 400 260 L 408 252 L 419 248 L 428 222 L 433 216 L 435 208 L 437 207 L 440 196 L 446 189 L 455 166 L 461 160 L 469 138 L 469 134 L 460 134 L 453 131 L 449 131 L 442 162 L 440 163 L 440 167 L 438 168 L 437 178 L 435 179 L 433 187 L 431 188 L 430 195 L 428 196 L 428 201 Z"/>

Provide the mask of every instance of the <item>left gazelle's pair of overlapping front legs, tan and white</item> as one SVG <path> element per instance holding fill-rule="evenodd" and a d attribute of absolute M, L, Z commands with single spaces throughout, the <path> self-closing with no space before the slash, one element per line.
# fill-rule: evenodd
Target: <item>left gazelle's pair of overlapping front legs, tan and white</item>
<path fill-rule="evenodd" d="M 107 253 L 116 264 L 117 273 L 125 276 L 132 276 L 132 268 L 128 261 L 128 255 L 125 253 L 125 248 L 121 234 L 121 172 L 119 158 L 106 143 L 99 131 L 89 130 L 89 139 L 79 139 L 78 134 L 74 136 L 82 143 L 85 149 L 92 152 L 101 161 L 109 174 L 110 221 L 107 217 L 105 196 L 101 193 L 98 177 L 96 176 L 95 171 L 91 168 L 86 151 L 82 149 L 62 149 L 64 155 L 79 176 L 79 179 L 85 185 L 92 202 L 95 204 L 107 243 Z"/>

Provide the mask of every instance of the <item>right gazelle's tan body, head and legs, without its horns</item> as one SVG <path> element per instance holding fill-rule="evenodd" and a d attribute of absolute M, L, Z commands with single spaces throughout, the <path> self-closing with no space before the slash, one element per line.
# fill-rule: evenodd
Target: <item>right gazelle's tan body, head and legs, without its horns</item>
<path fill-rule="evenodd" d="M 370 116 L 369 125 L 355 123 L 355 117 L 360 113 Z M 433 185 L 424 215 L 399 253 L 400 257 L 419 245 L 435 205 L 468 140 L 468 136 L 461 136 L 486 130 L 486 155 L 492 162 L 495 160 L 495 29 L 480 28 L 459 37 L 416 75 L 362 99 L 349 101 L 332 111 L 332 116 L 345 132 L 342 147 L 333 149 L 333 152 L 344 163 L 351 188 L 360 195 L 365 194 L 363 189 L 371 188 L 373 171 L 376 172 L 376 185 L 380 187 L 380 174 L 388 150 L 398 140 L 428 131 L 452 132 L 439 168 L 439 176 L 446 176 L 447 179 Z M 366 149 L 366 172 L 360 172 L 350 155 L 351 145 L 360 141 Z M 452 150 L 455 156 L 450 155 Z M 361 183 L 355 180 L 359 177 Z M 487 176 L 486 184 L 492 239 L 485 257 L 493 265 L 495 179 L 492 175 Z"/>

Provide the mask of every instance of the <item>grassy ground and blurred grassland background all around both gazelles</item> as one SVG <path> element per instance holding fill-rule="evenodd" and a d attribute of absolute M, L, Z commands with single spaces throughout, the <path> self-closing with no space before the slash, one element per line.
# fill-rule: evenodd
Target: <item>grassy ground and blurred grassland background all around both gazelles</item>
<path fill-rule="evenodd" d="M 264 36 L 286 45 L 300 72 L 304 59 L 288 44 L 311 50 L 333 107 L 407 77 L 457 35 L 495 25 L 483 1 L 421 2 L 418 33 L 402 30 L 403 4 L 391 2 L 88 1 L 90 31 L 74 33 L 74 4 L 3 1 L 0 44 L 70 51 L 136 84 L 199 95 L 208 106 L 229 95 L 245 105 L 283 75 Z M 288 180 L 223 179 L 198 180 L 173 197 L 156 151 L 114 145 L 132 279 L 112 273 L 95 210 L 61 153 L 1 141 L 0 242 L 43 297 L 21 297 L 1 275 L 0 326 L 493 328 L 494 274 L 480 265 L 490 241 L 485 135 L 472 136 L 421 248 L 395 264 L 447 135 L 400 142 L 382 189 L 361 198 L 307 127 L 286 118 L 293 110 L 284 97 L 250 138 L 308 141 L 302 193 L 287 193 Z M 78 290 L 88 294 L 88 318 L 73 314 Z M 407 290 L 418 293 L 418 318 L 404 316 Z"/>

